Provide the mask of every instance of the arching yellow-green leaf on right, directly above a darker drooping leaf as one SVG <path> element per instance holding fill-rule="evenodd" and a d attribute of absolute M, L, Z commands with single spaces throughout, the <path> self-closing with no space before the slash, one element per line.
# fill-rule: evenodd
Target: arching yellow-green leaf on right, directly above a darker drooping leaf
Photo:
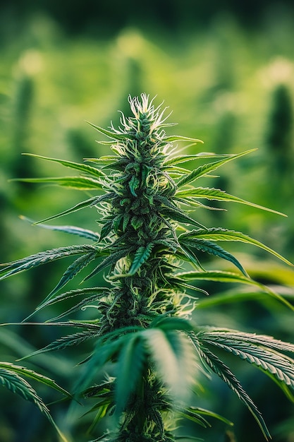
<path fill-rule="evenodd" d="M 180 234 L 179 241 L 180 238 L 212 239 L 212 241 L 240 241 L 246 244 L 252 244 L 254 246 L 260 247 L 260 249 L 268 251 L 272 255 L 281 259 L 281 261 L 284 261 L 288 265 L 293 266 L 293 264 L 290 263 L 288 259 L 281 256 L 276 251 L 270 249 L 268 246 L 265 246 L 264 244 L 262 244 L 262 242 L 257 241 L 256 239 L 252 239 L 242 232 L 235 232 L 234 230 L 222 229 L 221 227 L 213 227 L 212 229 L 197 229 L 192 230 L 192 232 L 185 232 L 183 234 Z"/>

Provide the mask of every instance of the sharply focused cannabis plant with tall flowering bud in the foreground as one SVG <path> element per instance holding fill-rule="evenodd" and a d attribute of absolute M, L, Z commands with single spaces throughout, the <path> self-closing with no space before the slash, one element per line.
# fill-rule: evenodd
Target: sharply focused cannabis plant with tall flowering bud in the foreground
<path fill-rule="evenodd" d="M 47 324 L 75 330 L 34 354 L 61 351 L 69 346 L 77 346 L 78 352 L 78 345 L 92 340 L 92 352 L 80 361 L 82 372 L 73 395 L 78 400 L 95 400 L 90 410 L 92 431 L 99 419 L 113 416 L 113 424 L 103 436 L 92 436 L 95 441 L 172 442 L 183 438 L 175 432 L 180 418 L 202 426 L 208 425 L 209 417 L 228 422 L 213 411 L 189 405 L 190 390 L 200 392 L 200 378 L 207 372 L 217 374 L 238 395 L 269 439 L 262 414 L 221 354 L 228 352 L 257 366 L 293 399 L 294 360 L 288 352 L 294 352 L 294 345 L 266 335 L 197 325 L 195 307 L 197 297 L 208 295 L 203 281 L 255 285 L 269 296 L 278 297 L 268 287 L 251 280 L 240 261 L 219 242 L 252 244 L 291 264 L 246 234 L 202 224 L 202 210 L 219 210 L 219 206 L 207 205 L 209 201 L 269 210 L 220 189 L 195 186 L 198 179 L 211 177 L 216 169 L 250 151 L 229 155 L 198 151 L 192 155 L 177 154 L 174 142 L 196 145 L 200 141 L 168 136 L 164 128 L 172 126 L 166 122 L 169 115 L 164 117 L 166 109 L 161 110 L 161 105 L 155 107 L 153 101 L 145 94 L 129 97 L 133 116 L 121 114 L 118 128 L 111 124 L 109 129 L 102 129 L 91 124 L 107 138 L 102 143 L 109 145 L 111 155 L 89 158 L 85 163 L 39 157 L 75 169 L 79 174 L 26 181 L 53 182 L 87 191 L 88 196 L 74 207 L 35 224 L 78 235 L 85 239 L 85 244 L 41 251 L 4 264 L 2 278 L 73 257 L 59 282 L 25 321 L 31 321 L 41 309 L 59 304 L 61 313 Z M 191 161 L 198 162 L 192 170 L 185 167 Z M 93 215 L 97 217 L 99 213 L 99 233 L 82 227 L 44 224 L 84 208 L 97 209 Z M 211 263 L 209 270 L 204 268 L 205 253 L 228 261 L 228 270 L 212 270 Z M 92 287 L 64 291 L 66 284 L 86 267 L 90 270 L 85 280 L 91 279 Z M 103 287 L 95 283 L 101 281 L 99 274 L 104 276 Z M 94 319 L 79 320 L 73 316 L 87 306 L 94 306 Z M 293 309 L 290 304 L 288 307 Z M 106 365 L 109 375 L 102 381 Z M 2 364 L 0 379 L 18 392 L 12 376 L 16 370 L 13 364 Z M 26 376 L 30 372 L 18 369 L 20 374 Z M 39 376 L 39 380 L 69 395 L 49 378 Z M 23 386 L 19 390 L 23 392 Z M 34 399 L 41 403 L 35 396 Z"/>

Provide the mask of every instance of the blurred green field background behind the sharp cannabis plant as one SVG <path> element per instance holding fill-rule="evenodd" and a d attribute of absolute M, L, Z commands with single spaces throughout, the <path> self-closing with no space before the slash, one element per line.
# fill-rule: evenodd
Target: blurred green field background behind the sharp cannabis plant
<path fill-rule="evenodd" d="M 107 153 L 105 146 L 95 143 L 99 136 L 85 121 L 104 127 L 110 121 L 118 124 L 117 109 L 130 114 L 128 94 L 146 92 L 157 95 L 156 104 L 164 100 L 173 111 L 170 121 L 178 126 L 169 133 L 204 141 L 204 145 L 188 148 L 190 153 L 239 153 L 258 148 L 226 165 L 221 177 L 203 185 L 219 186 L 288 217 L 231 204 L 227 212 L 201 212 L 197 219 L 208 226 L 242 230 L 294 262 L 293 42 L 294 5 L 290 0 L 2 1 L 0 261 L 78 241 L 19 219 L 22 214 L 40 220 L 85 199 L 73 190 L 9 182 L 17 177 L 68 173 L 59 165 L 21 153 L 78 162 Z M 96 230 L 96 217 L 89 209 L 58 222 Z M 249 246 L 231 246 L 231 251 L 252 277 L 275 286 L 293 302 L 293 270 Z M 222 268 L 223 263 L 208 261 L 207 265 Z M 66 263 L 52 263 L 1 282 L 0 322 L 22 321 L 65 269 Z M 256 330 L 293 342 L 293 313 L 285 306 L 240 287 L 207 288 L 212 296 L 200 299 L 195 321 Z M 231 295 L 234 301 L 230 301 Z M 41 311 L 34 319 L 46 320 L 56 313 Z M 54 327 L 1 327 L 1 360 L 13 362 L 60 334 Z M 75 363 L 87 350 L 44 354 L 25 364 L 52 373 L 71 389 L 78 374 Z M 231 362 L 263 412 L 274 441 L 293 442 L 293 405 L 259 371 Z M 203 398 L 197 398 L 195 405 L 233 420 L 235 438 L 226 435 L 226 426 L 218 422 L 204 431 L 183 422 L 181 434 L 209 442 L 262 441 L 250 414 L 221 381 L 213 377 L 204 386 Z M 47 390 L 38 393 L 47 402 L 59 399 Z M 81 416 L 87 405 L 82 411 L 71 407 L 69 416 L 67 408 L 63 402 L 51 407 L 61 428 L 75 442 L 94 438 L 85 436 L 91 417 Z M 43 442 L 57 440 L 37 409 L 2 388 L 0 441 L 41 438 Z"/>

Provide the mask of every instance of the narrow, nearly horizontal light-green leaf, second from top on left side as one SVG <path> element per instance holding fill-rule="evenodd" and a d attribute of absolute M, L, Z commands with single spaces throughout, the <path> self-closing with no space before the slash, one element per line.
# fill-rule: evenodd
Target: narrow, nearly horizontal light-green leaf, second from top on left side
<path fill-rule="evenodd" d="M 16 178 L 11 181 L 22 181 L 24 183 L 51 183 L 70 189 L 82 191 L 101 190 L 102 184 L 90 177 L 48 177 L 48 178 Z"/>

